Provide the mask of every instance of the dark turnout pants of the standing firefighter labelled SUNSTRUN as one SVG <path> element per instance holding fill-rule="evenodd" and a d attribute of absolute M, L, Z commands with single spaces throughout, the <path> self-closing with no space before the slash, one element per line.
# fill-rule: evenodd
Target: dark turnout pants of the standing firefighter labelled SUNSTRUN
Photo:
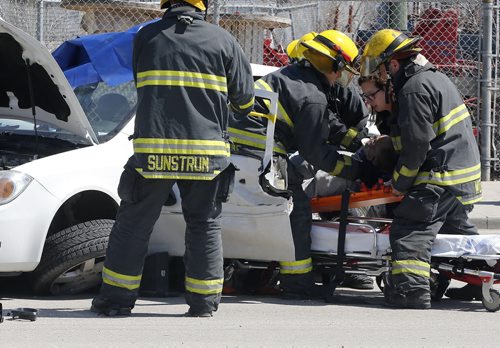
<path fill-rule="evenodd" d="M 101 294 L 123 305 L 135 303 L 153 226 L 177 182 L 186 221 L 186 302 L 195 311 L 217 310 L 224 280 L 220 215 L 233 174 L 230 166 L 213 180 L 145 179 L 127 164 L 118 187 L 122 201 L 109 238 Z"/>

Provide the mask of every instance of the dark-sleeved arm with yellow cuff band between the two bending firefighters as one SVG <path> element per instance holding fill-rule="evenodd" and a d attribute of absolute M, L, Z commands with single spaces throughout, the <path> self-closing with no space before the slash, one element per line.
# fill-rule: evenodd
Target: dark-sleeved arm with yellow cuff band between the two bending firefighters
<path fill-rule="evenodd" d="M 368 136 L 366 123 L 369 112 L 366 105 L 353 87 L 333 87 L 334 96 L 330 101 L 329 140 L 335 145 L 342 145 L 346 150 L 355 152 L 361 148 L 361 139 Z"/>

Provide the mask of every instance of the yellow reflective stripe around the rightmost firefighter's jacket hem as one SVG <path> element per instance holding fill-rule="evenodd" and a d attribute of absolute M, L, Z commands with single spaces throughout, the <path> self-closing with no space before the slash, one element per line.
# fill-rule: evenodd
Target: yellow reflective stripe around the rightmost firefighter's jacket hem
<path fill-rule="evenodd" d="M 470 174 L 470 175 L 467 175 Z M 465 175 L 465 176 L 464 176 Z M 415 180 L 418 184 L 450 186 L 481 179 L 481 164 L 473 167 L 440 172 L 420 172 Z"/>

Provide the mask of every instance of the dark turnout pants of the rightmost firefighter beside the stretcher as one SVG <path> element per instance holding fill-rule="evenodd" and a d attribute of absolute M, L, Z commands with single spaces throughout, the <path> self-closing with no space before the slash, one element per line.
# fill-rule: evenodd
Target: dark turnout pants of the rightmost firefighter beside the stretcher
<path fill-rule="evenodd" d="M 420 185 L 405 194 L 394 210 L 390 242 L 391 292 L 403 297 L 429 293 L 431 247 L 436 234 L 477 234 L 462 205 L 448 190 Z"/>

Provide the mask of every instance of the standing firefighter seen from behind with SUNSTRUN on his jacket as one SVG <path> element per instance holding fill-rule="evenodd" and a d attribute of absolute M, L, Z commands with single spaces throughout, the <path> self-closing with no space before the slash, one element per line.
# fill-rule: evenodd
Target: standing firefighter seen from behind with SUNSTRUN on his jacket
<path fill-rule="evenodd" d="M 250 64 L 236 40 L 204 21 L 201 0 L 162 0 L 163 18 L 135 38 L 134 155 L 111 231 L 94 312 L 130 315 L 153 225 L 177 183 L 186 221 L 188 316 L 209 317 L 220 303 L 221 203 L 234 175 L 229 163 L 228 102 L 236 115 L 254 103 Z"/>

